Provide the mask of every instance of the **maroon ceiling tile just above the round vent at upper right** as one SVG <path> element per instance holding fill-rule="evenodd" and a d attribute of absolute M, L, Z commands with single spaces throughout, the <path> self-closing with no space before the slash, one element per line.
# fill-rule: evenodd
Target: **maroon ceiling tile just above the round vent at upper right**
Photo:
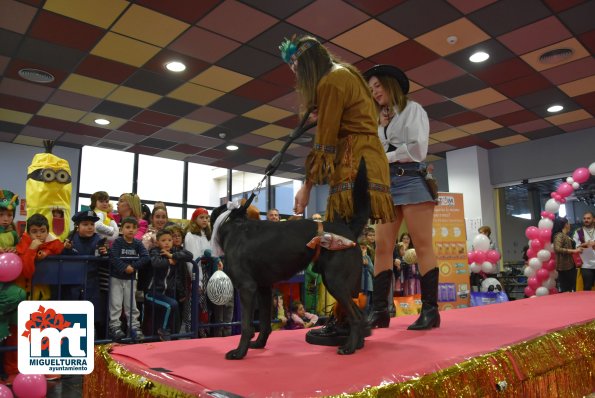
<path fill-rule="evenodd" d="M 502 35 L 498 37 L 498 40 L 515 54 L 521 55 L 571 36 L 572 34 L 560 23 L 558 18 L 551 16 Z"/>

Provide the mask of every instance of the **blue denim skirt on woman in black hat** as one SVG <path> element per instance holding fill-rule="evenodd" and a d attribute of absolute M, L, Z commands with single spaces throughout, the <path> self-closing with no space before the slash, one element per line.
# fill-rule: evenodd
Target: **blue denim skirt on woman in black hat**
<path fill-rule="evenodd" d="M 434 201 L 425 177 L 421 175 L 399 175 L 399 168 L 407 171 L 423 171 L 426 169 L 425 163 L 391 163 L 389 166 L 390 193 L 395 206 Z"/>

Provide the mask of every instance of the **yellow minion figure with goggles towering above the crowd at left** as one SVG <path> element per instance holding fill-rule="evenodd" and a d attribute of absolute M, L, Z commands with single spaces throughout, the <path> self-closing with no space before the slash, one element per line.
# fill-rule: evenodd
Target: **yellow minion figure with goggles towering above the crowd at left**
<path fill-rule="evenodd" d="M 70 232 L 72 176 L 68 161 L 52 154 L 53 141 L 44 141 L 45 153 L 38 153 L 27 170 L 27 214 L 44 215 L 50 231 L 64 241 Z"/>

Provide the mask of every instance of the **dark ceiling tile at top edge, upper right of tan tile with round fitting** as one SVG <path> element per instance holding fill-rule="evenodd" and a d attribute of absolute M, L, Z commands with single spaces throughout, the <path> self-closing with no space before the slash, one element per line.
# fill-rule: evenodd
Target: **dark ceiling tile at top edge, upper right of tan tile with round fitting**
<path fill-rule="evenodd" d="M 491 36 L 500 36 L 551 15 L 539 0 L 499 0 L 469 14 L 468 18 Z"/>

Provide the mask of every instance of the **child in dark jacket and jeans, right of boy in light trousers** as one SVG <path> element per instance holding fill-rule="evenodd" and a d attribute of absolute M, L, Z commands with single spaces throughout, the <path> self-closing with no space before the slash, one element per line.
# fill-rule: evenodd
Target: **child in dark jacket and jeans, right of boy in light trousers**
<path fill-rule="evenodd" d="M 178 300 L 185 296 L 185 287 L 178 273 L 186 268 L 186 262 L 192 260 L 192 253 L 179 249 L 173 252 L 171 231 L 162 229 L 156 235 L 156 247 L 151 249 L 153 278 L 147 290 L 147 303 L 152 303 L 151 310 L 145 308 L 145 325 L 150 333 L 155 329 L 162 339 L 167 340 L 170 333 L 180 330 Z M 146 329 L 145 329 L 146 330 Z"/>

